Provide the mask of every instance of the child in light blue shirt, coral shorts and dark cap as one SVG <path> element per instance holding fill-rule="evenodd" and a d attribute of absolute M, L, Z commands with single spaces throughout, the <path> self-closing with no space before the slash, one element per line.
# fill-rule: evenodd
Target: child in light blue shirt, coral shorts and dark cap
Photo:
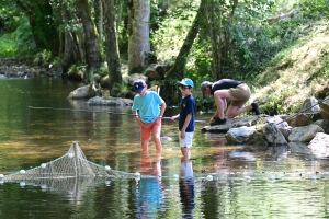
<path fill-rule="evenodd" d="M 140 126 L 141 150 L 144 154 L 148 153 L 148 142 L 152 136 L 157 151 L 162 151 L 161 117 L 167 105 L 158 93 L 147 90 L 144 80 L 135 81 L 134 88 L 137 95 L 134 97 L 132 111 Z"/>

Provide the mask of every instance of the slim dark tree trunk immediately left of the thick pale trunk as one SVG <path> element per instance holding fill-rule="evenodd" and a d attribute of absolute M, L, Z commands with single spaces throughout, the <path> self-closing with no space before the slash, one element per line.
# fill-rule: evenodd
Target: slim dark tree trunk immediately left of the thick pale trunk
<path fill-rule="evenodd" d="M 113 0 L 104 0 L 104 14 L 105 14 L 105 45 L 106 45 L 106 60 L 109 68 L 109 89 L 110 94 L 113 95 L 113 89 L 115 89 L 115 84 L 121 85 L 122 76 L 121 76 L 121 65 L 120 65 L 120 56 L 117 48 L 117 37 L 116 37 L 116 28 L 115 28 L 115 10 L 113 5 Z M 116 88 L 117 89 L 117 88 Z M 121 88 L 118 88 L 121 89 Z"/>

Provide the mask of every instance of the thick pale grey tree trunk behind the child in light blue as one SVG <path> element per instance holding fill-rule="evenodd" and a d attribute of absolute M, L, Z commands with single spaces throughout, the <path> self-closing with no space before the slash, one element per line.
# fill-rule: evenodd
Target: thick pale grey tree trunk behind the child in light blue
<path fill-rule="evenodd" d="M 141 72 L 149 45 L 149 0 L 128 0 L 128 72 Z"/>

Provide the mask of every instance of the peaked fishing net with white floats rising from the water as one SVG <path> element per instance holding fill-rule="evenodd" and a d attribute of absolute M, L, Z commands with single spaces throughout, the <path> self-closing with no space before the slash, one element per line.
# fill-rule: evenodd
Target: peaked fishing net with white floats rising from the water
<path fill-rule="evenodd" d="M 60 182 L 64 178 L 77 177 L 134 177 L 134 173 L 126 173 L 112 170 L 109 165 L 103 166 L 90 162 L 84 157 L 78 142 L 73 141 L 68 152 L 47 163 L 42 163 L 41 166 L 21 170 L 4 176 L 5 181 L 45 181 L 52 178 L 52 182 Z M 54 181 L 56 180 L 56 181 Z"/>

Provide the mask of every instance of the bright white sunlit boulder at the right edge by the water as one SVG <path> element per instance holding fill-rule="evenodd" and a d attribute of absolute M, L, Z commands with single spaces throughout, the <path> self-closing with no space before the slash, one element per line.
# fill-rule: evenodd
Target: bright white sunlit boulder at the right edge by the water
<path fill-rule="evenodd" d="M 329 135 L 318 132 L 307 147 L 317 158 L 329 157 Z"/>

